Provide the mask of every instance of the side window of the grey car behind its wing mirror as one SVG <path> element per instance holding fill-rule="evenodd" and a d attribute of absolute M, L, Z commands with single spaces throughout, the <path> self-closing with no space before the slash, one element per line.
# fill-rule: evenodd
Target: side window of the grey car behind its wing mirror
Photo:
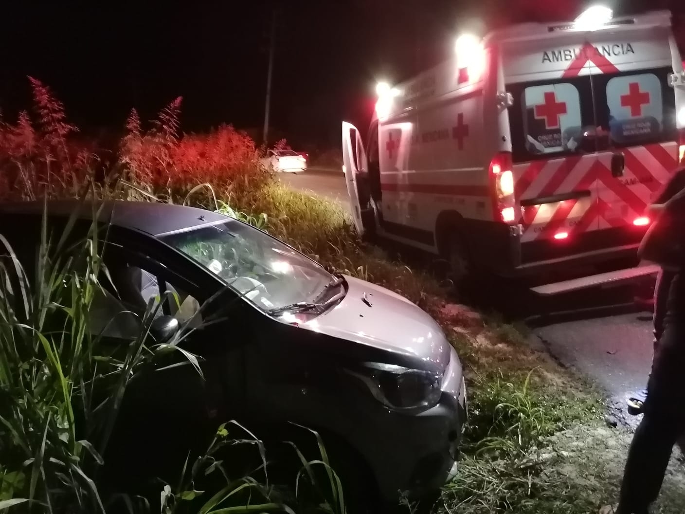
<path fill-rule="evenodd" d="M 173 315 L 182 326 L 200 328 L 200 304 L 178 284 L 126 262 L 108 265 L 101 273 L 102 287 L 92 299 L 90 332 L 116 339 L 132 339 L 140 333 L 149 303 L 155 317 Z"/>

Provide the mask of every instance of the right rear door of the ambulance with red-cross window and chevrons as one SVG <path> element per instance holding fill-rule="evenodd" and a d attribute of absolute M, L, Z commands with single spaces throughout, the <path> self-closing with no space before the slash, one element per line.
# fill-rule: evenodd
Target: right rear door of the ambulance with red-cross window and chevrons
<path fill-rule="evenodd" d="M 645 208 L 677 166 L 675 90 L 669 80 L 681 60 L 671 56 L 670 35 L 667 27 L 650 27 L 597 32 L 589 40 L 595 49 L 590 78 L 599 151 L 597 219 L 599 228 L 627 230 L 630 242 L 649 225 Z"/>

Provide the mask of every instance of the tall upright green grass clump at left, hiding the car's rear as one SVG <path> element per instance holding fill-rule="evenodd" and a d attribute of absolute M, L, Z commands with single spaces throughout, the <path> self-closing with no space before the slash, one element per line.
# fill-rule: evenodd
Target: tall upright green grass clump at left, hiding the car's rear
<path fill-rule="evenodd" d="M 30 277 L 0 237 L 3 474 L 14 476 L 12 499 L 36 512 L 104 511 L 93 478 L 127 383 L 156 354 L 145 347 L 144 326 L 119 355 L 90 334 L 100 239 L 92 227 L 73 241 L 74 221 L 58 236 L 44 221 Z"/>

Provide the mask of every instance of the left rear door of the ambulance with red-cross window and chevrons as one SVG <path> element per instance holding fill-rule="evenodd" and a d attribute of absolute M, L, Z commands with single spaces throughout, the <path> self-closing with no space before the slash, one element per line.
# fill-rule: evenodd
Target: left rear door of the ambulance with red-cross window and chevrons
<path fill-rule="evenodd" d="M 580 46 L 577 35 L 502 45 L 523 262 L 599 229 L 597 145 L 584 137 L 596 126 L 589 67 L 567 72 Z"/>

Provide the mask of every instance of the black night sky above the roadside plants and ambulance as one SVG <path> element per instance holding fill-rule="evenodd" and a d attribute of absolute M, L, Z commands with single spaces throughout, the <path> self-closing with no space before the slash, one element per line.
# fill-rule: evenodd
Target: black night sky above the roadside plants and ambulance
<path fill-rule="evenodd" d="M 184 97 L 182 128 L 233 123 L 261 134 L 271 13 L 277 43 L 271 125 L 293 145 L 337 145 L 340 121 L 364 125 L 377 79 L 444 60 L 459 30 L 573 19 L 585 0 L 226 0 L 0 7 L 0 107 L 28 108 L 26 75 L 53 88 L 82 132 L 119 130 L 132 107 L 151 119 Z M 613 0 L 616 12 L 683 0 Z M 685 21 L 685 20 L 684 20 Z M 685 30 L 685 23 L 683 23 Z"/>

